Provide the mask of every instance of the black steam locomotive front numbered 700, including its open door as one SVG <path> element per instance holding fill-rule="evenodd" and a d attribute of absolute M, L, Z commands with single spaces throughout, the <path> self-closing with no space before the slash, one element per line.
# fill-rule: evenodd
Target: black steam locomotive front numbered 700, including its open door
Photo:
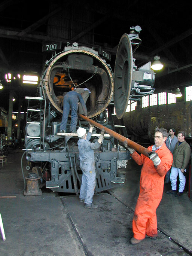
<path fill-rule="evenodd" d="M 52 191 L 76 193 L 80 191 L 82 171 L 77 147 L 78 137 L 62 135 L 60 122 L 64 94 L 72 86 L 91 92 L 86 101 L 88 118 L 127 137 L 124 125 L 116 126 L 113 116 L 122 121 L 128 100 L 153 94 L 155 73 L 150 62 L 137 68 L 133 52 L 140 45 L 141 28 L 132 27 L 119 42 L 115 71 L 110 67 L 110 54 L 103 49 L 88 48 L 73 43 L 64 47 L 49 61 L 39 83 L 37 97 L 28 100 L 25 149 L 28 168 L 40 176 L 40 182 Z M 107 58 L 106 58 L 107 57 Z M 115 110 L 114 110 L 115 109 Z M 80 110 L 79 110 L 80 111 Z M 77 127 L 89 129 L 89 122 L 79 118 Z M 121 129 L 121 130 L 120 130 Z M 94 127 L 91 141 L 98 139 L 100 130 Z M 95 150 L 96 192 L 124 184 L 118 173 L 118 163 L 130 159 L 128 150 L 119 141 L 105 134 L 103 144 Z"/>

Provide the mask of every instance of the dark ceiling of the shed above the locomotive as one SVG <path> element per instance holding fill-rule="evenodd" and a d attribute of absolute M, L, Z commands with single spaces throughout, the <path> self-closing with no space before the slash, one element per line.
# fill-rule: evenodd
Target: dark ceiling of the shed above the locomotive
<path fill-rule="evenodd" d="M 40 76 L 52 56 L 42 52 L 43 44 L 62 42 L 64 48 L 67 42 L 78 42 L 96 50 L 101 46 L 112 54 L 113 69 L 119 39 L 135 25 L 142 28 L 142 44 L 134 54 L 136 65 L 153 61 L 155 55 L 164 64 L 163 70 L 156 71 L 155 92 L 191 85 L 191 8 L 183 1 L 1 1 L 0 79 L 4 88 L 0 106 L 8 110 L 10 89 L 22 101 L 35 94 L 35 86 L 14 81 L 8 85 L 4 74 L 37 72 Z"/>

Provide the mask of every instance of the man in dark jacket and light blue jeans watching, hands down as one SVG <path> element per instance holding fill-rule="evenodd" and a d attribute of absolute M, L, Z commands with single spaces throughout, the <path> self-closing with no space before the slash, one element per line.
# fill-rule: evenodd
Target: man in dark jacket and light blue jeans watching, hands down
<path fill-rule="evenodd" d="M 176 194 L 175 196 L 182 196 L 185 188 L 185 174 L 186 167 L 191 157 L 191 149 L 189 144 L 185 141 L 185 132 L 179 131 L 177 134 L 178 142 L 173 151 L 173 164 L 171 168 L 171 189 L 167 194 Z M 177 176 L 179 173 L 179 191 L 177 193 Z"/>

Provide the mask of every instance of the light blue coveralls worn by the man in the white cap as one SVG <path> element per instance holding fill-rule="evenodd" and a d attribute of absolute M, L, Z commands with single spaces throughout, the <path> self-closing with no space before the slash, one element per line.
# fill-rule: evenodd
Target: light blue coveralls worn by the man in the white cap
<path fill-rule="evenodd" d="M 79 149 L 80 168 L 83 172 L 79 198 L 85 199 L 85 204 L 91 204 L 95 190 L 95 157 L 94 149 L 101 144 L 96 141 L 91 143 L 92 132 L 88 132 L 86 139 L 80 138 L 77 142 Z"/>

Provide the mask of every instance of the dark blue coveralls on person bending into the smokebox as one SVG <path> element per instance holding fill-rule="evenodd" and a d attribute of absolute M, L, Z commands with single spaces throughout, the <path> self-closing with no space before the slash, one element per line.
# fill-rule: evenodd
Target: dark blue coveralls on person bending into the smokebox
<path fill-rule="evenodd" d="M 67 92 L 67 94 L 64 96 L 63 99 L 63 116 L 60 124 L 61 130 L 66 130 L 67 126 L 67 119 L 68 114 L 71 109 L 71 127 L 70 131 L 76 131 L 76 125 L 77 125 L 77 109 L 78 109 L 78 102 L 80 101 L 80 104 L 83 107 L 84 115 L 87 116 L 87 108 L 83 101 L 82 96 L 77 93 L 75 90 Z"/>

